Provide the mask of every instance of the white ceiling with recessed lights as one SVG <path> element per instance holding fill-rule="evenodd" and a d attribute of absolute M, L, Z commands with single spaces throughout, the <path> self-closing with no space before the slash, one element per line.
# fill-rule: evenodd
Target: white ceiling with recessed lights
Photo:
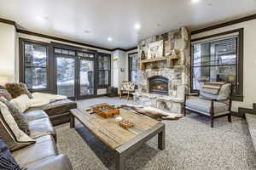
<path fill-rule="evenodd" d="M 15 20 L 22 29 L 104 48 L 132 48 L 138 40 L 180 26 L 196 28 L 256 13 L 256 0 L 0 0 L 0 4 L 0 18 Z M 137 23 L 140 31 L 134 28 Z"/>

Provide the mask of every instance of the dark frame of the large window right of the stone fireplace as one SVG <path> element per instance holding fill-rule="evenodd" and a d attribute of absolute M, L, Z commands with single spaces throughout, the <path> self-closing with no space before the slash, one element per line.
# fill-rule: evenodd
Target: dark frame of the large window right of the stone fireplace
<path fill-rule="evenodd" d="M 191 42 L 196 42 L 196 41 L 202 41 L 202 40 L 207 40 L 212 37 L 221 37 L 225 35 L 229 35 L 231 33 L 238 33 L 237 36 L 237 41 L 236 41 L 236 51 L 237 51 L 237 57 L 236 57 L 236 77 L 237 77 L 237 82 L 239 83 L 238 88 L 237 88 L 237 93 L 232 95 L 232 100 L 236 101 L 243 101 L 243 44 L 244 44 L 244 28 L 239 28 L 236 30 L 231 30 L 231 31 L 224 31 L 218 34 L 213 34 L 207 37 L 200 37 L 200 38 L 195 38 L 191 40 Z M 229 38 L 229 37 L 227 37 Z M 218 40 L 216 40 L 218 41 Z M 191 54 L 191 59 L 190 59 L 190 92 L 191 93 L 198 93 L 199 90 L 193 89 L 193 61 L 194 61 L 194 45 L 191 43 L 191 48 L 190 48 L 190 54 Z"/>

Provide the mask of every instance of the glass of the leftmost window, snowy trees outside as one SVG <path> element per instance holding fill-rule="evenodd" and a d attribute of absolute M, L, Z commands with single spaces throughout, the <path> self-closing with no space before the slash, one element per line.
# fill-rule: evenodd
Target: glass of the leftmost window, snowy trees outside
<path fill-rule="evenodd" d="M 28 89 L 48 88 L 48 47 L 24 42 L 24 82 Z"/>

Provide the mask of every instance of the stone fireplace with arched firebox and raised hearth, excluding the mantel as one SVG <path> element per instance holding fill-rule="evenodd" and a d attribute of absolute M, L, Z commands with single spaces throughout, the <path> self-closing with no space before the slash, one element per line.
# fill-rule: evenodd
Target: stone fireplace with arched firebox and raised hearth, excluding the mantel
<path fill-rule="evenodd" d="M 137 72 L 138 89 L 134 98 L 143 105 L 181 113 L 184 94 L 189 88 L 190 35 L 183 27 L 138 42 L 139 58 L 143 56 L 143 59 L 147 59 L 149 43 L 160 40 L 164 41 L 163 57 L 175 53 L 177 59 L 172 67 L 168 66 L 167 60 L 140 67 Z"/>

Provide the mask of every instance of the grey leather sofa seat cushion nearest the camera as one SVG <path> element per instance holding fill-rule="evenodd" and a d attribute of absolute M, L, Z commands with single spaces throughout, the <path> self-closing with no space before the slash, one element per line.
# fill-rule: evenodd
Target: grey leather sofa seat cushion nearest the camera
<path fill-rule="evenodd" d="M 50 156 L 58 154 L 55 141 L 50 135 L 40 137 L 36 141 L 35 144 L 12 152 L 20 166 L 33 167 Z"/>

